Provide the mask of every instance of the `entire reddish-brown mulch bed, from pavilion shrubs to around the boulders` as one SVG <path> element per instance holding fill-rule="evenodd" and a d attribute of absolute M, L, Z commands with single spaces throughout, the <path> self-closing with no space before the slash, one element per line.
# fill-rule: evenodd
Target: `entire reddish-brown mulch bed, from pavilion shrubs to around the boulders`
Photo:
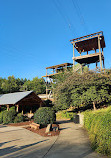
<path fill-rule="evenodd" d="M 26 121 L 26 122 L 20 122 L 20 123 L 10 123 L 10 124 L 8 124 L 8 126 L 24 126 L 25 129 L 27 129 L 29 131 L 32 131 L 34 133 L 37 133 L 37 134 L 39 134 L 41 136 L 44 136 L 44 137 L 57 136 L 57 135 L 60 134 L 60 130 L 50 131 L 49 133 L 45 133 L 46 127 L 34 130 L 33 128 L 30 128 L 30 127 L 27 126 L 27 125 L 30 125 L 32 122 L 34 122 L 34 121 L 32 120 L 32 121 Z M 26 127 L 25 127 L 25 125 L 26 125 Z M 52 127 L 58 127 L 59 128 L 59 125 L 58 124 L 52 124 Z"/>

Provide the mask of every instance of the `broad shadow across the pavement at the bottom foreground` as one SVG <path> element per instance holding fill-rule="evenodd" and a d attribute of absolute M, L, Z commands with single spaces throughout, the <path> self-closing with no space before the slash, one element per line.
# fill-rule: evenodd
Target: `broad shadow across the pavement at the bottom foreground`
<path fill-rule="evenodd" d="M 32 156 L 33 158 L 103 158 L 101 156 L 98 157 L 90 148 L 84 146 L 86 146 L 85 143 L 68 145 L 64 142 L 63 144 L 54 144 L 52 148 L 48 146 L 37 150 L 29 149 L 27 153 L 19 152 L 11 156 L 16 158 L 32 158 Z M 47 150 L 48 148 L 49 150 Z"/>

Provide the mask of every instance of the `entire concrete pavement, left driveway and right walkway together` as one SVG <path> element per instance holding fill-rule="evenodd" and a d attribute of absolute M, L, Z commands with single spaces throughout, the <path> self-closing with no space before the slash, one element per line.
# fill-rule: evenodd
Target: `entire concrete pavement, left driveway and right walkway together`
<path fill-rule="evenodd" d="M 80 125 L 62 121 L 61 134 L 41 137 L 20 127 L 0 127 L 0 158 L 106 158 L 93 152 Z"/>

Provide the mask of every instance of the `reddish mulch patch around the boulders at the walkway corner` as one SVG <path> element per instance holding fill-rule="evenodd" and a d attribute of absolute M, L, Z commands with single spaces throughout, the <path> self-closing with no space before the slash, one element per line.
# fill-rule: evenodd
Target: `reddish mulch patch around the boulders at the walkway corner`
<path fill-rule="evenodd" d="M 58 127 L 59 128 L 59 125 L 52 124 L 52 127 Z M 50 131 L 49 133 L 45 133 L 46 127 L 38 129 L 38 130 L 34 130 L 34 129 L 30 128 L 30 127 L 24 127 L 24 128 L 27 129 L 27 130 L 30 130 L 30 131 L 32 131 L 34 133 L 37 133 L 37 134 L 39 134 L 41 136 L 44 136 L 44 137 L 57 136 L 57 135 L 60 134 L 59 130 L 58 131 Z"/>

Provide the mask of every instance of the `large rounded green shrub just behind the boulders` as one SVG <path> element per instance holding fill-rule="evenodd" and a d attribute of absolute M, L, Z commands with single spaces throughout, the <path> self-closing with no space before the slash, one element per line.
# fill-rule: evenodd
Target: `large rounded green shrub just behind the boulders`
<path fill-rule="evenodd" d="M 40 107 L 34 114 L 34 122 L 40 125 L 54 123 L 55 112 L 50 107 Z"/>

